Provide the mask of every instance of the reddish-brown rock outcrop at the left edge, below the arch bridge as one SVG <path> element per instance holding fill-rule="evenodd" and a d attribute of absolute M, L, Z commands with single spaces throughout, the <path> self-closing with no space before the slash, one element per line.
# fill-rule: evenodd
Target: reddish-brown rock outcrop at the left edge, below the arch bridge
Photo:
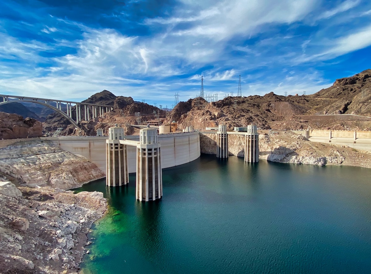
<path fill-rule="evenodd" d="M 0 112 L 0 140 L 42 136 L 41 122 L 17 114 Z"/>

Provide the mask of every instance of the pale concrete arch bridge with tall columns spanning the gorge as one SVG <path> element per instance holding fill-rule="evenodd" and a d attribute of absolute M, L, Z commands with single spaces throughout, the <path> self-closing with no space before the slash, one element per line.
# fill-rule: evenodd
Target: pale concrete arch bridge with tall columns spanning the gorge
<path fill-rule="evenodd" d="M 78 123 L 80 121 L 90 121 L 90 119 L 94 119 L 98 116 L 103 117 L 104 113 L 110 112 L 114 108 L 113 106 L 102 104 L 81 103 L 26 96 L 0 94 L 0 97 L 3 97 L 3 101 L 0 101 L 0 106 L 15 102 L 29 102 L 52 108 L 54 111 L 60 113 L 63 117 L 70 121 L 70 123 L 75 127 L 79 127 Z M 62 103 L 64 103 L 65 106 L 63 106 Z M 76 106 L 75 110 L 72 109 L 73 105 Z M 67 107 L 66 112 L 62 110 L 62 106 L 63 108 Z"/>

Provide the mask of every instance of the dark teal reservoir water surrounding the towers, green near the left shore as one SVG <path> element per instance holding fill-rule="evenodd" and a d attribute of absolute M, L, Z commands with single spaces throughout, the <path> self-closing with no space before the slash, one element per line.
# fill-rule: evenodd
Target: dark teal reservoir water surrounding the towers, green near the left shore
<path fill-rule="evenodd" d="M 371 169 L 201 155 L 163 170 L 163 198 L 105 180 L 109 213 L 82 273 L 370 273 Z"/>

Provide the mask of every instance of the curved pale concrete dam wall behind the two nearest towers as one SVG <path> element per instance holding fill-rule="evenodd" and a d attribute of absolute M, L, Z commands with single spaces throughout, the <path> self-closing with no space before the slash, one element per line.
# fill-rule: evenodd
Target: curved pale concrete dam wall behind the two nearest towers
<path fill-rule="evenodd" d="M 56 146 L 78 156 L 88 158 L 102 171 L 106 172 L 106 140 L 108 137 L 59 136 L 40 137 L 52 141 Z M 139 136 L 125 136 L 127 140 L 139 142 Z M 179 166 L 200 157 L 200 134 L 198 131 L 180 134 L 160 134 L 162 168 Z M 136 171 L 137 148 L 128 146 L 129 173 Z"/>

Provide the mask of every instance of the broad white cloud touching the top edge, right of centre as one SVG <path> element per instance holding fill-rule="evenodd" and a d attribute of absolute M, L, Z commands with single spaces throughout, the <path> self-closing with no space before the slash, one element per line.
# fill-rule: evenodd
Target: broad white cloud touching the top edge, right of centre
<path fill-rule="evenodd" d="M 267 23 L 292 23 L 301 20 L 314 9 L 316 3 L 318 3 L 316 0 L 219 1 L 214 3 L 210 9 L 203 9 L 200 12 L 207 16 L 191 16 L 189 19 L 178 15 L 178 17 L 167 19 L 157 18 L 150 23 L 176 24 L 190 21 L 194 23 L 193 26 L 185 30 L 174 31 L 173 35 L 204 36 L 220 41 L 237 34 L 255 33 L 257 27 Z M 208 6 L 204 5 L 204 7 Z M 198 5 L 192 8 L 197 10 Z M 177 12 L 177 14 L 180 13 L 181 11 Z"/>

